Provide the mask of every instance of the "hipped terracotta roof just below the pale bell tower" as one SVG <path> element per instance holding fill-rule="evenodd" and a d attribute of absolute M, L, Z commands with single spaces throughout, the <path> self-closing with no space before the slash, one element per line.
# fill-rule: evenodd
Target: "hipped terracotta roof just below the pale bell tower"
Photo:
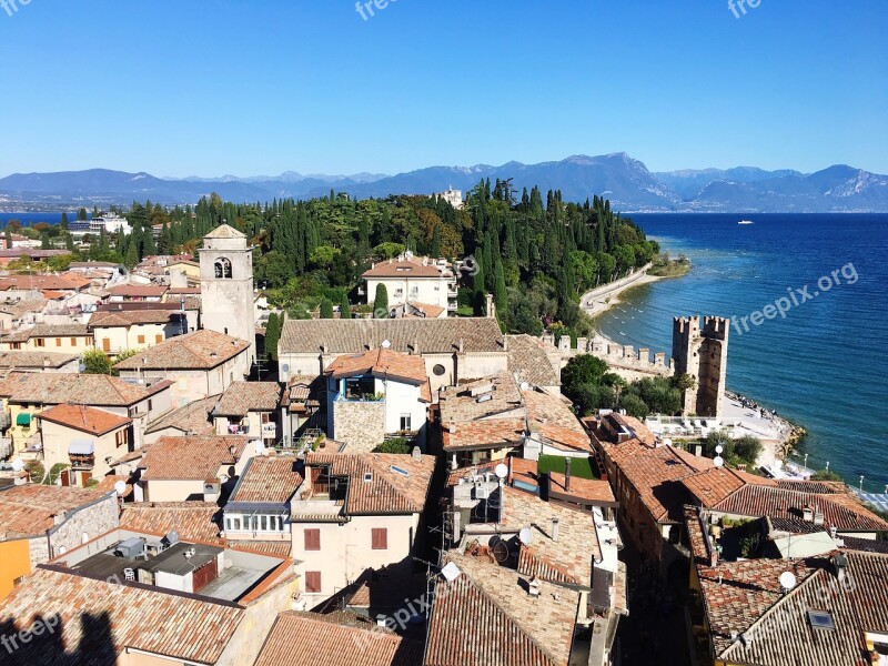
<path fill-rule="evenodd" d="M 115 364 L 118 370 L 209 370 L 250 349 L 245 340 L 202 330 L 171 337 Z"/>

